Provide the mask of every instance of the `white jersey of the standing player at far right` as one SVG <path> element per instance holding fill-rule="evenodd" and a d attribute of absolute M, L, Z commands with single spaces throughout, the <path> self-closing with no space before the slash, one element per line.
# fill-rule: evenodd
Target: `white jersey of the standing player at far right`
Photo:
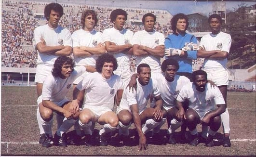
<path fill-rule="evenodd" d="M 220 50 L 229 53 L 231 46 L 231 36 L 224 32 L 219 32 L 216 35 L 210 33 L 202 37 L 200 45 L 203 45 L 206 51 Z M 226 68 L 227 62 L 227 58 L 222 60 L 205 58 L 203 67 Z"/>

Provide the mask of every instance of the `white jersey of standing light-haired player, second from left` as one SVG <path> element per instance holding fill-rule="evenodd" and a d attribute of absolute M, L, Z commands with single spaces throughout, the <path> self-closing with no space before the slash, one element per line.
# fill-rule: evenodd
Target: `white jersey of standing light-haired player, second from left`
<path fill-rule="evenodd" d="M 85 31 L 83 29 L 79 29 L 72 34 L 72 41 L 73 41 L 73 48 L 86 46 L 94 48 L 101 40 L 101 32 L 96 32 L 95 30 L 92 31 Z M 90 65 L 95 67 L 96 59 L 98 58 L 97 55 L 92 55 L 89 57 L 80 57 L 74 56 L 76 65 Z"/>

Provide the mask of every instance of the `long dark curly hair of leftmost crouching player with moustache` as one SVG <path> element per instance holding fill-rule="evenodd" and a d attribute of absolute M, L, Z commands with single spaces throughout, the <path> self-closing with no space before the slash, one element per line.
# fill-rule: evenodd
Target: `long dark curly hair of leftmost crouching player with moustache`
<path fill-rule="evenodd" d="M 72 67 L 72 71 L 74 70 L 74 61 L 71 57 L 68 57 L 68 56 L 59 56 L 55 62 L 54 62 L 54 67 L 53 67 L 53 70 L 52 70 L 52 75 L 54 77 L 60 77 L 62 74 L 61 74 L 61 67 L 62 65 L 71 65 Z"/>

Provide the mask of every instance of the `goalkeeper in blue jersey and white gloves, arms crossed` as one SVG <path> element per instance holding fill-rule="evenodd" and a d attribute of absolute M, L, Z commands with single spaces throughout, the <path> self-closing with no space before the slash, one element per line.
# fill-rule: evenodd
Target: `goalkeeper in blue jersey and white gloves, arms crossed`
<path fill-rule="evenodd" d="M 186 76 L 192 82 L 192 60 L 197 59 L 197 39 L 195 36 L 186 33 L 189 20 L 185 14 L 176 14 L 171 23 L 174 33 L 167 36 L 164 41 L 165 59 L 173 58 L 177 60 L 180 68 L 176 74 Z"/>

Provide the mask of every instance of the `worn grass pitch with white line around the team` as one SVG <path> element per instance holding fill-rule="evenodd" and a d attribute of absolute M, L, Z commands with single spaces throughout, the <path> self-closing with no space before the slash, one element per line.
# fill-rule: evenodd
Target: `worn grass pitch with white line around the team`
<path fill-rule="evenodd" d="M 1 86 L 1 156 L 256 156 L 255 92 L 228 92 L 231 147 L 149 142 L 146 151 L 138 151 L 136 144 L 127 146 L 116 143 L 106 147 L 68 145 L 66 148 L 44 148 L 38 143 L 36 99 L 36 87 Z M 100 127 L 96 125 L 95 131 Z M 132 134 L 134 128 L 132 125 Z M 166 130 L 167 124 L 161 128 L 162 136 Z M 55 131 L 54 122 L 53 133 Z M 69 133 L 72 132 L 73 128 Z M 222 135 L 222 127 L 218 135 Z M 115 134 L 112 137 L 114 140 Z"/>

